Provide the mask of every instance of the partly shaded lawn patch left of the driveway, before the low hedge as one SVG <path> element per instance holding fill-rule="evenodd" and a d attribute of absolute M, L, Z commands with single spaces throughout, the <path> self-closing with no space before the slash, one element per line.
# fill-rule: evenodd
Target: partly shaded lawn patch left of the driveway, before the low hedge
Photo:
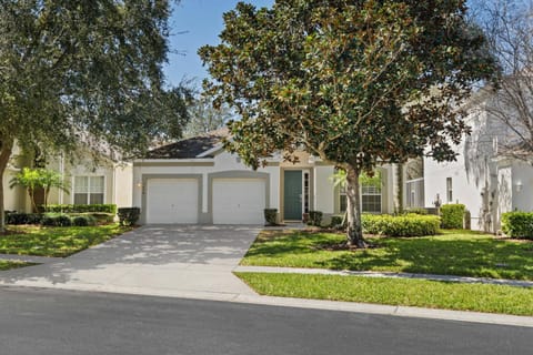
<path fill-rule="evenodd" d="M 0 235 L 0 253 L 64 257 L 129 230 L 131 227 L 118 224 L 70 227 L 9 226 L 9 233 Z"/>

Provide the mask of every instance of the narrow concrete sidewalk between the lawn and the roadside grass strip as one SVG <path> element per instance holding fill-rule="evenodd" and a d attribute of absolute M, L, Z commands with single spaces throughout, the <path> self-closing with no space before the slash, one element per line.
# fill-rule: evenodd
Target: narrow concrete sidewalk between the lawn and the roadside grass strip
<path fill-rule="evenodd" d="M 369 271 L 334 271 L 334 270 L 325 270 L 325 268 L 274 267 L 274 266 L 237 266 L 233 270 L 233 272 L 416 278 L 416 280 L 431 280 L 431 281 L 462 282 L 462 283 L 471 283 L 471 284 L 482 283 L 482 284 L 492 284 L 492 285 L 533 287 L 533 282 L 531 281 L 499 280 L 499 278 L 486 278 L 486 277 L 464 277 L 464 276 L 434 275 L 434 274 L 389 273 L 389 272 L 369 272 Z"/>

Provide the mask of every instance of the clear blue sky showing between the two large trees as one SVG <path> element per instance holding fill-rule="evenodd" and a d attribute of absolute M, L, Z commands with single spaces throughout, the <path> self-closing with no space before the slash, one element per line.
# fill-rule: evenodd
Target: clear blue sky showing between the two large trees
<path fill-rule="evenodd" d="M 175 87 L 183 79 L 208 77 L 197 54 L 204 44 L 218 44 L 223 30 L 222 14 L 235 8 L 238 0 L 181 0 L 173 7 L 170 20 L 171 37 L 169 63 L 164 67 L 168 84 Z M 245 1 L 259 7 L 271 7 L 274 0 Z"/>

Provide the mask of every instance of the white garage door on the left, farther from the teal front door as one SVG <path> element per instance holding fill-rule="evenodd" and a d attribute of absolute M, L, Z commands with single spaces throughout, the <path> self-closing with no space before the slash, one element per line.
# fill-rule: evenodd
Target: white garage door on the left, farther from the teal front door
<path fill-rule="evenodd" d="M 147 223 L 198 223 L 198 180 L 149 179 Z"/>

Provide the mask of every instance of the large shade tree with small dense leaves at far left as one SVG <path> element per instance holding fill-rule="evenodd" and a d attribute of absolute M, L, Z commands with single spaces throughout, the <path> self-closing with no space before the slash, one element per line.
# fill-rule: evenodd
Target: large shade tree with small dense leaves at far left
<path fill-rule="evenodd" d="M 169 16 L 167 0 L 1 1 L 0 176 L 16 142 L 135 153 L 179 136 L 187 91 L 164 87 Z"/>

